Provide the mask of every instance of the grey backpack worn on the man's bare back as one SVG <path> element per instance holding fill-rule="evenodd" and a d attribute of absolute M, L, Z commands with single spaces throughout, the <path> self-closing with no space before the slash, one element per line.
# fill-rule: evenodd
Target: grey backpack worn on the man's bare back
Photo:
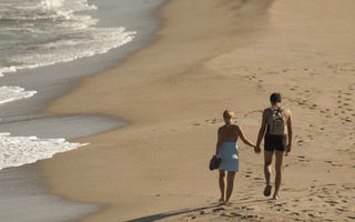
<path fill-rule="evenodd" d="M 267 121 L 268 133 L 278 135 L 285 134 L 285 115 L 283 110 L 283 108 L 277 110 L 271 108 L 272 114 Z"/>

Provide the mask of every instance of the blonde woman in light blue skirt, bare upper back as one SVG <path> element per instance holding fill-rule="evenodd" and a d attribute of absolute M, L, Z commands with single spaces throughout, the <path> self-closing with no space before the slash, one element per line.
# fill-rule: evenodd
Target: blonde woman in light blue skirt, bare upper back
<path fill-rule="evenodd" d="M 220 202 L 224 202 L 225 204 L 230 204 L 230 198 L 233 191 L 234 175 L 235 172 L 239 171 L 239 152 L 236 144 L 239 138 L 241 138 L 245 144 L 255 148 L 255 144 L 244 135 L 242 129 L 239 125 L 232 123 L 233 117 L 234 113 L 229 110 L 225 110 L 223 112 L 225 124 L 219 129 L 219 139 L 215 151 L 215 154 L 222 158 L 219 179 L 221 189 Z M 225 171 L 227 171 L 226 189 Z"/>

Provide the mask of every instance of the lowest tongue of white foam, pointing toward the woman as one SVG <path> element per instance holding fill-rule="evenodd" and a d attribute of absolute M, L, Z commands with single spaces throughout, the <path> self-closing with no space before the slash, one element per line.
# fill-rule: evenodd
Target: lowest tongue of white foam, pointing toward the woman
<path fill-rule="evenodd" d="M 73 150 L 88 143 L 70 143 L 65 139 L 11 137 L 10 133 L 0 133 L 0 144 L 1 170 L 52 158 L 54 153 Z"/>

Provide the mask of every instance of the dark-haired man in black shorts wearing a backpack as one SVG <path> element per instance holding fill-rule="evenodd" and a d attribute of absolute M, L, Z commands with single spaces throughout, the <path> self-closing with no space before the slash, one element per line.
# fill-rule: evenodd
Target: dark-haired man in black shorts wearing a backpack
<path fill-rule="evenodd" d="M 284 109 L 281 104 L 281 94 L 272 93 L 270 97 L 271 108 L 266 108 L 263 112 L 262 125 L 258 131 L 255 152 L 261 152 L 260 143 L 264 140 L 264 173 L 266 180 L 266 186 L 264 189 L 264 195 L 270 196 L 272 185 L 270 182 L 271 167 L 273 155 L 275 153 L 275 191 L 273 199 L 278 200 L 278 191 L 282 181 L 282 168 L 284 155 L 291 152 L 292 147 L 292 118 L 291 111 Z M 266 130 L 266 133 L 265 133 Z M 288 143 L 286 144 L 286 140 Z"/>

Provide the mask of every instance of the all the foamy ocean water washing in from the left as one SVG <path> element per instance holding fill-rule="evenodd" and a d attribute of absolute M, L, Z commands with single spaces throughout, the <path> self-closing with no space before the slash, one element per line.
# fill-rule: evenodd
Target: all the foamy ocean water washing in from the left
<path fill-rule="evenodd" d="M 0 0 L 0 109 L 37 91 L 1 84 L 3 74 L 105 53 L 134 39 L 124 27 L 99 28 L 87 0 Z M 1 123 L 1 120 L 0 120 Z M 51 158 L 85 144 L 63 138 L 0 132 L 0 169 Z"/>

